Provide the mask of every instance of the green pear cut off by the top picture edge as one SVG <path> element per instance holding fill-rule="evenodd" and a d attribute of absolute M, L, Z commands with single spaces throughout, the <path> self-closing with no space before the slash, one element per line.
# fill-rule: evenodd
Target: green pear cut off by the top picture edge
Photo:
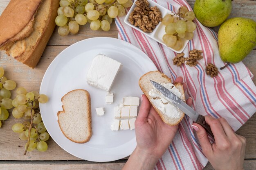
<path fill-rule="evenodd" d="M 218 26 L 231 13 L 231 0 L 195 0 L 195 17 L 204 26 Z"/>

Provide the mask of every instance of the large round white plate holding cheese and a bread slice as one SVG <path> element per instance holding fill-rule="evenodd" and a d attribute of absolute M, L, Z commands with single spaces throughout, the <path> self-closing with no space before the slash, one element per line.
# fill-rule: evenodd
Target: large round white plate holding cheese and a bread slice
<path fill-rule="evenodd" d="M 105 103 L 106 92 L 86 83 L 86 74 L 92 59 L 105 54 L 122 63 L 111 92 L 114 103 Z M 66 48 L 49 65 L 43 77 L 40 94 L 46 94 L 49 102 L 40 104 L 45 127 L 54 141 L 68 153 L 89 161 L 114 161 L 127 157 L 136 146 L 135 131 L 111 131 L 114 107 L 125 96 L 142 94 L 139 78 L 146 72 L 157 70 L 153 62 L 141 50 L 115 38 L 97 37 L 79 41 Z M 58 126 L 57 112 L 62 110 L 61 98 L 73 89 L 86 89 L 91 96 L 92 137 L 85 144 L 67 139 Z M 95 108 L 104 107 L 105 115 L 97 116 Z"/>

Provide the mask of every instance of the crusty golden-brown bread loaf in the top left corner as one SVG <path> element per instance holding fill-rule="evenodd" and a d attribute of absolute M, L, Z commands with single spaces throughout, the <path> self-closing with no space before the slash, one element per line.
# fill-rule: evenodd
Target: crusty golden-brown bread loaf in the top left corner
<path fill-rule="evenodd" d="M 35 68 L 55 27 L 58 0 L 11 0 L 0 16 L 0 50 Z"/>

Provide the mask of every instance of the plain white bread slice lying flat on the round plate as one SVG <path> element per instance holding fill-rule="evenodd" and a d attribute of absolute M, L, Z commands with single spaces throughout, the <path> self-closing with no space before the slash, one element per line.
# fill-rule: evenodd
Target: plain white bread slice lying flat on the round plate
<path fill-rule="evenodd" d="M 92 136 L 90 94 L 83 89 L 68 92 L 61 98 L 63 111 L 58 111 L 62 133 L 72 142 L 85 143 Z"/>

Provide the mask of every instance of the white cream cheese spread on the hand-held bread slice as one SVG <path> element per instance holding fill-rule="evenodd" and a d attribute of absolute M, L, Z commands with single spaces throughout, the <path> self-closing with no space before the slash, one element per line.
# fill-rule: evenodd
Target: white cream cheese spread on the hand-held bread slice
<path fill-rule="evenodd" d="M 175 94 L 178 98 L 181 98 L 182 94 L 180 91 L 173 85 L 172 83 L 159 83 L 160 85 L 164 86 L 166 89 L 170 90 Z M 153 85 L 152 85 L 153 86 Z M 154 86 L 149 91 L 149 96 L 152 97 L 151 102 L 164 113 L 169 118 L 180 118 L 181 113 L 180 109 L 178 109 L 172 102 L 166 100 L 166 97 L 160 93 Z"/>

